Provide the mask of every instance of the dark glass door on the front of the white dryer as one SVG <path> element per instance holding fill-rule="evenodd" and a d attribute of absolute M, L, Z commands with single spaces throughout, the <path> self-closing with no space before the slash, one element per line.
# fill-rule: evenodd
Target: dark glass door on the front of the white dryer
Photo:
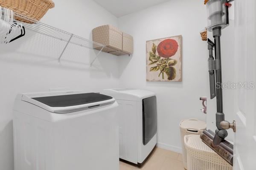
<path fill-rule="evenodd" d="M 142 100 L 143 109 L 143 144 L 146 145 L 157 133 L 157 98 Z"/>

